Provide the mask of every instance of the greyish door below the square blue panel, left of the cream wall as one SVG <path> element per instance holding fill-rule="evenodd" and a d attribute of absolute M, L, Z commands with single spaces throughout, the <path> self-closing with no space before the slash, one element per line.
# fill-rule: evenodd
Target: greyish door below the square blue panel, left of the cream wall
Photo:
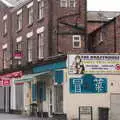
<path fill-rule="evenodd" d="M 63 113 L 63 86 L 62 85 L 56 85 L 54 87 L 55 92 L 55 113 Z"/>

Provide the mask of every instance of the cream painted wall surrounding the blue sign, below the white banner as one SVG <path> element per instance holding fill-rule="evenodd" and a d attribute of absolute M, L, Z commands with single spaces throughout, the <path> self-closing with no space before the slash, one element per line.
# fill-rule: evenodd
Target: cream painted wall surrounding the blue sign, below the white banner
<path fill-rule="evenodd" d="M 68 120 L 78 118 L 79 106 L 93 107 L 93 120 L 98 120 L 98 107 L 110 108 L 110 94 L 120 93 L 120 76 L 119 75 L 95 75 L 97 78 L 108 79 L 108 93 L 105 94 L 70 94 L 69 78 L 81 77 L 81 75 L 68 75 L 64 70 L 64 113 L 67 114 Z M 111 86 L 111 83 L 113 86 Z"/>

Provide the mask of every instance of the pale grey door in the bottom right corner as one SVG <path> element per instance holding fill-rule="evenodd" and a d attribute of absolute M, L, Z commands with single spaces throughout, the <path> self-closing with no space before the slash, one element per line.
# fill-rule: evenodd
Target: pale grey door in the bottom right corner
<path fill-rule="evenodd" d="M 120 94 L 111 94 L 110 120 L 120 120 Z"/>

